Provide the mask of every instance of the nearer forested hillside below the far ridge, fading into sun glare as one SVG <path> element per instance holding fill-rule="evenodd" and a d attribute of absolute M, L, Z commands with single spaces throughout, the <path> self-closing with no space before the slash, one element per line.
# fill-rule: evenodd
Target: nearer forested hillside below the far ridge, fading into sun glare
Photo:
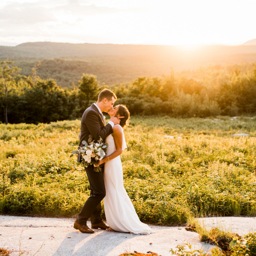
<path fill-rule="evenodd" d="M 6 58 L 0 58 L 5 60 Z M 73 58 L 22 58 L 12 57 L 20 67 L 21 75 L 29 76 L 31 68 L 41 61 L 38 76 L 43 79 L 54 78 L 63 87 L 76 84 L 83 73 L 96 74 L 100 84 L 130 82 L 139 76 L 160 76 L 169 74 L 171 68 L 166 62 L 156 62 L 146 56 L 87 56 L 83 59 Z"/>

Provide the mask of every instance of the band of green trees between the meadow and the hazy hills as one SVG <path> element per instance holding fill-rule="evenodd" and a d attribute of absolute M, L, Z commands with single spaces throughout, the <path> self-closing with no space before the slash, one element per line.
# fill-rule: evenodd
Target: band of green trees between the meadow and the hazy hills
<path fill-rule="evenodd" d="M 0 122 L 49 123 L 81 118 L 105 87 L 116 93 L 116 104 L 131 114 L 178 117 L 252 115 L 256 113 L 256 65 L 205 67 L 169 76 L 139 77 L 130 83 L 100 86 L 96 76 L 83 74 L 71 88 L 54 79 L 21 76 L 12 61 L 0 62 Z"/>

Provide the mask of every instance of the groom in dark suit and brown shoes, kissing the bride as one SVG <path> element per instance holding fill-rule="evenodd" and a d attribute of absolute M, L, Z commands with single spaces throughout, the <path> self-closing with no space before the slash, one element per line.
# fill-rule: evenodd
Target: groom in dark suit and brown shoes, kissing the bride
<path fill-rule="evenodd" d="M 116 101 L 116 95 L 111 90 L 104 89 L 99 93 L 97 103 L 93 103 L 87 108 L 81 118 L 81 137 L 79 147 L 82 146 L 82 141 L 88 141 L 89 135 L 93 136 L 93 140 L 98 141 L 100 138 L 105 142 L 106 137 L 113 133 L 113 126 L 120 123 L 120 118 L 123 116 L 111 117 L 108 124 L 105 124 L 102 112 L 108 112 L 113 108 Z M 82 162 L 81 155 L 78 155 L 78 162 Z M 105 198 L 106 190 L 102 172 L 94 172 L 93 165 L 84 168 L 90 183 L 90 197 L 81 209 L 75 223 L 74 228 L 80 230 L 82 233 L 94 233 L 87 226 L 87 220 L 90 218 L 93 229 L 107 229 L 109 228 L 102 220 L 101 201 Z"/>

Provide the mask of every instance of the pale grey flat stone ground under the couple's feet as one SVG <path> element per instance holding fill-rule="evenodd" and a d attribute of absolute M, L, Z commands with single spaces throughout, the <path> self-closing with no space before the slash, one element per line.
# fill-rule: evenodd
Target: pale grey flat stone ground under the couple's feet
<path fill-rule="evenodd" d="M 232 222 L 234 229 L 240 228 L 240 222 L 243 223 L 242 228 L 247 225 L 247 229 L 243 229 L 241 233 L 248 233 L 247 231 L 255 227 L 255 218 L 232 218 L 224 217 L 223 220 L 227 225 Z M 217 223 L 215 218 L 203 218 L 202 221 L 209 226 Z M 222 218 L 218 221 L 222 221 Z M 12 256 L 18 256 L 19 251 L 23 251 L 24 256 L 34 256 L 35 253 L 36 256 L 119 256 L 134 250 L 170 256 L 171 248 L 186 242 L 196 249 L 203 248 L 206 251 L 213 247 L 201 243 L 198 233 L 186 231 L 184 227 L 151 226 L 156 233 L 148 236 L 105 230 L 82 234 L 73 228 L 73 222 L 74 219 L 67 218 L 0 215 L 0 248 L 11 250 Z M 90 223 L 88 226 L 90 227 Z"/>

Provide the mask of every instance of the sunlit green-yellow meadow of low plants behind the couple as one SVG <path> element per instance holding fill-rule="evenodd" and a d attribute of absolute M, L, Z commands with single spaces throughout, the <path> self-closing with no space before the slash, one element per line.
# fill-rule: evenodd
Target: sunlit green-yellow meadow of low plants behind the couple
<path fill-rule="evenodd" d="M 1 214 L 79 213 L 90 194 L 83 166 L 70 158 L 79 132 L 79 120 L 0 124 Z M 256 215 L 256 117 L 132 116 L 125 137 L 124 186 L 142 221 Z"/>

